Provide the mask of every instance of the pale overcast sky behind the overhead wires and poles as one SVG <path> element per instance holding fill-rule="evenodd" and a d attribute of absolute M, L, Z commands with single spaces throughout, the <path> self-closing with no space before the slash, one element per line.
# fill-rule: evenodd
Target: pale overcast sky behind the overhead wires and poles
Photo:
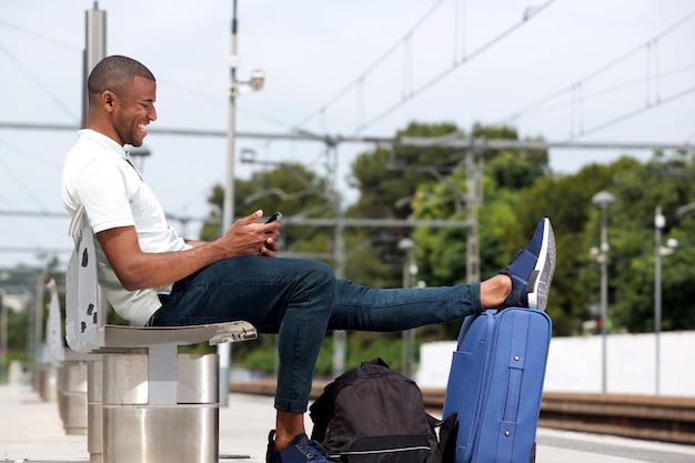
<path fill-rule="evenodd" d="M 0 0 L 0 269 L 67 266 L 62 160 L 79 127 L 85 12 L 107 13 L 107 54 L 127 54 L 158 80 L 158 120 L 139 167 L 164 210 L 195 238 L 213 184 L 224 184 L 230 63 L 264 87 L 236 98 L 236 131 L 394 137 L 409 122 L 506 123 L 550 141 L 695 143 L 692 0 Z M 172 129 L 195 135 L 168 133 Z M 162 130 L 162 132 L 158 132 Z M 202 135 L 212 131 L 216 135 Z M 236 138 L 235 172 L 302 162 L 335 180 L 350 203 L 351 162 L 369 143 Z M 254 152 L 255 165 L 239 161 Z M 649 150 L 553 149 L 571 174 Z M 279 203 L 278 209 L 282 209 Z M 248 211 L 254 210 L 249 204 Z M 270 213 L 270 211 L 268 211 Z"/>

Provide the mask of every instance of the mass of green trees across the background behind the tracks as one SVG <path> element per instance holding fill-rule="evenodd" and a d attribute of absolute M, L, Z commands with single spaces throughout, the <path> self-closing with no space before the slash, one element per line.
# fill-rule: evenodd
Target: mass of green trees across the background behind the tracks
<path fill-rule="evenodd" d="M 400 137 L 460 137 L 463 131 L 451 123 L 410 123 Z M 476 139 L 516 140 L 507 127 L 475 124 Z M 612 326 L 618 331 L 651 331 L 654 328 L 654 208 L 659 204 L 667 218 L 663 242 L 677 239 L 678 249 L 663 258 L 663 329 L 695 329 L 695 213 L 676 218 L 674 211 L 695 202 L 695 161 L 693 153 L 654 153 L 647 163 L 629 157 L 610 164 L 591 164 L 572 175 L 550 171 L 545 150 L 477 149 L 482 163 L 483 198 L 477 207 L 481 275 L 490 278 L 523 248 L 542 217 L 550 217 L 555 230 L 557 269 L 547 308 L 555 335 L 583 333 L 584 324 L 596 318 L 600 266 L 590 258 L 598 245 L 601 210 L 592 198 L 602 190 L 616 199 L 610 209 L 611 243 L 610 308 Z M 300 170 L 296 165 L 294 169 Z M 352 165 L 351 182 L 360 189 L 356 203 L 345 212 L 348 218 L 460 220 L 466 215 L 466 151 L 451 148 L 376 147 L 361 153 Z M 250 181 L 238 182 L 236 210 L 281 209 L 306 217 L 331 217 L 334 208 L 331 192 L 321 195 L 324 183 L 313 173 L 298 182 L 282 169 L 256 173 Z M 283 183 L 284 182 L 284 183 Z M 311 188 L 314 185 L 315 188 Z M 273 189 L 292 194 L 279 201 Z M 271 190 L 270 197 L 259 195 Z M 314 194 L 302 195 L 302 191 Z M 221 211 L 221 189 L 214 190 L 212 218 Z M 253 204 L 243 199 L 254 197 Z M 215 209 L 216 208 L 216 209 Z M 311 213 L 306 213 L 311 211 Z M 219 223 L 219 219 L 218 219 Z M 219 231 L 218 231 L 219 233 Z M 286 230 L 288 243 L 302 252 L 332 252 L 331 230 Z M 427 285 L 466 281 L 466 239 L 463 228 L 407 230 L 346 229 L 345 276 L 362 284 L 394 288 L 402 283 L 403 263 L 407 258 L 397 249 L 401 239 L 415 240 L 413 256 L 417 279 Z M 689 283 L 689 284 L 688 284 Z M 454 339 L 461 323 L 425 326 L 417 330 L 417 342 Z M 399 333 L 349 333 L 348 366 L 362 360 L 384 358 L 400 368 Z M 265 341 L 245 343 L 235 351 L 236 360 L 269 371 L 274 363 L 274 345 Z M 249 349 L 249 351 L 244 351 Z M 254 353 L 254 350 L 268 352 Z M 269 353 L 271 352 L 271 353 Z M 316 364 L 318 375 L 330 375 L 332 339 L 326 336 Z"/>

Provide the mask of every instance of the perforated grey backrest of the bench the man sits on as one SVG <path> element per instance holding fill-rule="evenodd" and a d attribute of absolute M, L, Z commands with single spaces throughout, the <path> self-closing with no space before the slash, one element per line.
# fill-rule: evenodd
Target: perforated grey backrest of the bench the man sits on
<path fill-rule="evenodd" d="M 107 310 L 102 306 L 97 275 L 94 234 L 83 205 L 72 218 L 70 235 L 74 249 L 67 275 L 66 339 L 70 349 L 91 352 L 105 345 Z"/>

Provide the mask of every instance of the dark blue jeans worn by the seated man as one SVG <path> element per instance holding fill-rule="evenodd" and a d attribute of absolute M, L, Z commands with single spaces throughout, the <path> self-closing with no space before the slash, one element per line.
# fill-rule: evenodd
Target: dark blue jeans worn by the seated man
<path fill-rule="evenodd" d="M 177 282 L 152 324 L 245 320 L 278 333 L 275 409 L 304 413 L 326 330 L 402 331 L 480 311 L 480 283 L 377 290 L 336 280 L 319 261 L 249 255 Z"/>

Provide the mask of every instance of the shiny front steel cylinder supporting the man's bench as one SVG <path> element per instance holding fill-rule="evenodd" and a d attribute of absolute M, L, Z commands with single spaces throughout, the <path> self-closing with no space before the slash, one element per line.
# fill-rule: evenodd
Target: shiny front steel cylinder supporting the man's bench
<path fill-rule="evenodd" d="M 219 358 L 160 348 L 103 356 L 103 462 L 218 463 Z"/>

